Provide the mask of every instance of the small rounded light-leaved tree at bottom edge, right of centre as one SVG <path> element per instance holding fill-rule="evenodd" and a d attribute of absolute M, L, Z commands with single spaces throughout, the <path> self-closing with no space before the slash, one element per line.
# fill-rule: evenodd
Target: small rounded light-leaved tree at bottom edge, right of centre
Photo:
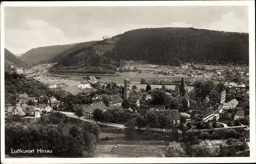
<path fill-rule="evenodd" d="M 184 157 L 184 156 L 185 156 L 185 151 L 179 144 L 169 145 L 165 149 L 165 157 Z"/>

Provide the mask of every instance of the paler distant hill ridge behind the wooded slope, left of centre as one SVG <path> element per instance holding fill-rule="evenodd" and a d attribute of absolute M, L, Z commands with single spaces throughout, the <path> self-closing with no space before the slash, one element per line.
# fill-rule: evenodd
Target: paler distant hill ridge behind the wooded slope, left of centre
<path fill-rule="evenodd" d="M 37 48 L 30 49 L 29 51 L 24 53 L 22 56 L 20 56 L 20 58 L 30 64 L 39 64 L 42 62 L 49 61 L 51 58 L 53 58 L 60 52 L 65 51 L 76 44 L 78 43 L 37 47 Z"/>

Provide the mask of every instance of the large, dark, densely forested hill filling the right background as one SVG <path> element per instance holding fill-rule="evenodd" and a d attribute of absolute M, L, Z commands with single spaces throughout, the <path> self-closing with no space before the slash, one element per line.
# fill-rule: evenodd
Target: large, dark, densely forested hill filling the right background
<path fill-rule="evenodd" d="M 205 64 L 249 64 L 249 34 L 194 28 L 138 29 L 119 35 L 115 47 L 105 53 L 115 61 L 134 60 L 175 65 L 181 62 Z"/>

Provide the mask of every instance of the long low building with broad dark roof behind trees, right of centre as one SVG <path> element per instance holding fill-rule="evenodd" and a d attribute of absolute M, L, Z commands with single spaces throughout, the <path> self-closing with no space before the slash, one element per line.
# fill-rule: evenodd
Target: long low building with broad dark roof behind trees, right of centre
<path fill-rule="evenodd" d="M 180 123 L 181 117 L 178 110 L 165 110 L 165 111 L 147 111 L 146 115 L 150 112 L 155 113 L 156 118 L 158 118 L 161 114 L 167 116 L 171 123 Z"/>

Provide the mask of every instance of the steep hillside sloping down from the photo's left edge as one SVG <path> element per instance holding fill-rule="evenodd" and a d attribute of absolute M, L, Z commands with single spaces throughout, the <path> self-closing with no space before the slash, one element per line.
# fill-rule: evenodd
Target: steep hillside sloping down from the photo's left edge
<path fill-rule="evenodd" d="M 10 52 L 8 49 L 5 48 L 5 64 L 6 65 L 15 65 L 18 67 L 27 67 L 28 64 L 20 59 L 19 57 L 16 57 L 12 52 Z"/>

